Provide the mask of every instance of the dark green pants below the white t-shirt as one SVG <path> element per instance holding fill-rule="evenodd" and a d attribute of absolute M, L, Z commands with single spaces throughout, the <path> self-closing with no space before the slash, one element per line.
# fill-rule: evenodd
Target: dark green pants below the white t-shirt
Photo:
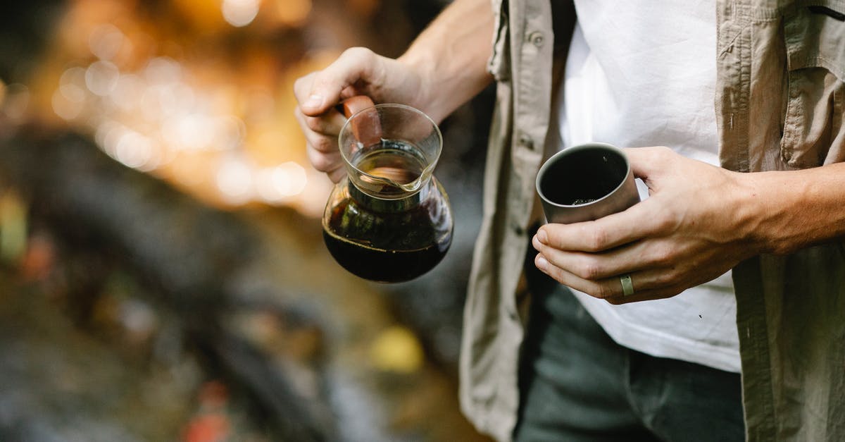
<path fill-rule="evenodd" d="M 516 441 L 744 440 L 739 374 L 620 346 L 548 281 L 532 285 Z"/>

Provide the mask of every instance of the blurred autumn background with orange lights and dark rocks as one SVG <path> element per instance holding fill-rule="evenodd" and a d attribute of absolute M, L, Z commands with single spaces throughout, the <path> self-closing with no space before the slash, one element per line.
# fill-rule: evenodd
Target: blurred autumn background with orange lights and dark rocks
<path fill-rule="evenodd" d="M 493 92 L 444 121 L 455 237 L 346 273 L 293 81 L 446 0 L 28 0 L 0 14 L 0 440 L 473 441 L 461 314 Z"/>

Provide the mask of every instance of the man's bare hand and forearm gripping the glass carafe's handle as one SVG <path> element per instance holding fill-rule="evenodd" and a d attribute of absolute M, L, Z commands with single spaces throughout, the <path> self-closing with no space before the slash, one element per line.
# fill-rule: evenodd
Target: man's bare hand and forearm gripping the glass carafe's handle
<path fill-rule="evenodd" d="M 366 95 L 376 103 L 406 104 L 439 123 L 493 80 L 486 69 L 492 40 L 489 0 L 455 0 L 400 58 L 353 47 L 298 79 L 295 113 L 314 169 L 335 182 L 345 174 L 337 135 L 346 119 L 335 109 L 344 99 Z"/>

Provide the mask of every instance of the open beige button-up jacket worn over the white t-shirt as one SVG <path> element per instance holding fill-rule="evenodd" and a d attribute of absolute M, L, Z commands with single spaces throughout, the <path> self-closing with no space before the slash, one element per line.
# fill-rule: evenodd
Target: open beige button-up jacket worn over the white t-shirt
<path fill-rule="evenodd" d="M 555 68 L 575 13 L 561 0 L 493 0 L 493 11 L 488 68 L 498 102 L 460 393 L 477 428 L 509 440 L 523 338 L 515 293 Z M 755 172 L 845 160 L 845 1 L 717 0 L 717 17 L 722 166 Z M 845 245 L 755 257 L 733 275 L 748 439 L 845 440 Z"/>

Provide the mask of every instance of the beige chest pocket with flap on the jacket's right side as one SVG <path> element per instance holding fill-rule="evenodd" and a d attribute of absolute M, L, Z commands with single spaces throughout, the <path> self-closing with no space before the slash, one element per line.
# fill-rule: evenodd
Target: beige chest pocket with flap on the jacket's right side
<path fill-rule="evenodd" d="M 827 8 L 784 18 L 787 108 L 781 157 L 805 169 L 845 161 L 845 22 Z"/>

